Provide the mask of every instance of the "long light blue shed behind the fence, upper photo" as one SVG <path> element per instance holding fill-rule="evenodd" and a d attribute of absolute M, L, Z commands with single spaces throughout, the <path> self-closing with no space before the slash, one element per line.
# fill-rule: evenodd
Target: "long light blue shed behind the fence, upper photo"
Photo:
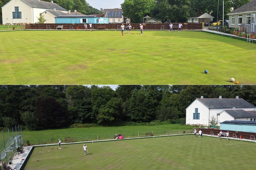
<path fill-rule="evenodd" d="M 80 16 L 57 16 L 55 23 L 109 23 L 109 19 L 105 17 L 97 17 L 96 15 L 80 15 Z"/>

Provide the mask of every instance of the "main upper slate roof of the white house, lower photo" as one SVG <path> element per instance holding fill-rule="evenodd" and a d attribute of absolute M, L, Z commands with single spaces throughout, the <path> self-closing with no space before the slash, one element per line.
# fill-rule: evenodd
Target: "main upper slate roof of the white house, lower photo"
<path fill-rule="evenodd" d="M 227 99 L 227 98 L 199 98 L 196 99 L 203 103 L 208 108 L 255 108 L 251 103 L 243 100 L 243 99 Z"/>

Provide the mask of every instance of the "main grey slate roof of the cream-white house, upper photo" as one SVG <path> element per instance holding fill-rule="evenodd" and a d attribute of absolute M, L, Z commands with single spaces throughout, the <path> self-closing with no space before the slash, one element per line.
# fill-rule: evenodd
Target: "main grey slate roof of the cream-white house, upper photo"
<path fill-rule="evenodd" d="M 56 10 L 59 10 L 59 11 L 67 11 L 65 8 L 52 2 L 41 1 L 41 0 L 21 0 L 21 1 L 25 2 L 26 4 L 34 8 L 44 8 L 49 10 L 54 10 L 55 8 Z"/>

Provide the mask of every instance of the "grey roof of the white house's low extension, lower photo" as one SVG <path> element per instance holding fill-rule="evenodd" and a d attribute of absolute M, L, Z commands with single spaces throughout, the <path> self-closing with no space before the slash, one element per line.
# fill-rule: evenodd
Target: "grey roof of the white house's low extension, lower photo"
<path fill-rule="evenodd" d="M 245 111 L 245 110 L 225 110 L 223 112 L 226 112 L 233 118 L 255 118 L 256 117 L 256 111 Z M 221 112 L 221 113 L 223 113 Z"/>

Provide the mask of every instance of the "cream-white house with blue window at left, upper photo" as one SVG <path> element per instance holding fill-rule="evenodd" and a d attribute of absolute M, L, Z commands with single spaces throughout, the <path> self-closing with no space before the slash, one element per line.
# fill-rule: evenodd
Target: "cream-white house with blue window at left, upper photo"
<path fill-rule="evenodd" d="M 36 23 L 40 13 L 43 13 L 47 23 L 55 23 L 56 13 L 68 14 L 66 9 L 53 1 L 11 0 L 1 8 L 3 24 Z"/>

